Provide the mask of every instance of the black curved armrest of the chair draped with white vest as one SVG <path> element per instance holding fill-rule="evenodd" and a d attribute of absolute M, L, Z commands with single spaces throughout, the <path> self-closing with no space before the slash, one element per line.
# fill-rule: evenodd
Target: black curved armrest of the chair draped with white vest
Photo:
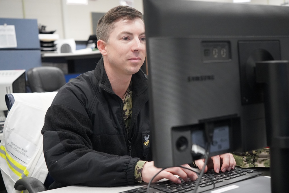
<path fill-rule="evenodd" d="M 29 193 L 42 192 L 47 190 L 45 186 L 36 178 L 27 177 L 19 179 L 14 184 L 15 190 L 28 190 Z"/>

